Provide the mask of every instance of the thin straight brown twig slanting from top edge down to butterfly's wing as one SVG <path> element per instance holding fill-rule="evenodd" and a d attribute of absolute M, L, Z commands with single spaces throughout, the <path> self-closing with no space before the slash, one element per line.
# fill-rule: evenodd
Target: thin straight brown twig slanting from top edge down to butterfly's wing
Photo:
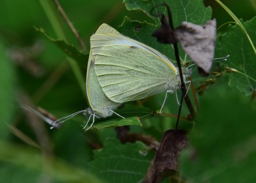
<path fill-rule="evenodd" d="M 61 7 L 60 3 L 58 2 L 58 0 L 53 0 L 54 4 L 56 5 L 57 9 L 59 10 L 61 16 L 63 17 L 63 19 L 65 20 L 65 22 L 67 22 L 69 28 L 71 29 L 71 31 L 74 33 L 74 35 L 77 38 L 77 41 L 79 42 L 79 44 L 81 45 L 83 51 L 87 51 L 86 45 L 84 44 L 83 40 L 81 39 L 80 34 L 78 33 L 78 31 L 76 30 L 76 28 L 73 26 L 72 22 L 70 22 L 70 20 L 68 19 L 67 14 L 64 12 L 63 8 Z"/>

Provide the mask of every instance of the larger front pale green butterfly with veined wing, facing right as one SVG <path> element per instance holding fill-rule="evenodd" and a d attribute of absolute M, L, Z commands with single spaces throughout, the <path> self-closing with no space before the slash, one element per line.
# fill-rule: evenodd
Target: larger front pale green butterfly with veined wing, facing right
<path fill-rule="evenodd" d="M 108 99 L 123 103 L 161 92 L 166 92 L 167 97 L 167 93 L 180 88 L 177 68 L 159 51 L 118 33 L 107 24 L 102 24 L 98 31 L 90 38 L 91 51 L 95 74 Z"/>

